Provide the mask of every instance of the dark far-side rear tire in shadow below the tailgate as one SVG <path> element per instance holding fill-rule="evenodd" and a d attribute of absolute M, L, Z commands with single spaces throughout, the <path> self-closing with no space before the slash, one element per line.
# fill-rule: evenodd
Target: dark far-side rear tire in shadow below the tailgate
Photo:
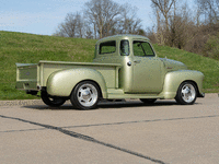
<path fill-rule="evenodd" d="M 49 96 L 46 91 L 41 92 L 42 101 L 51 107 L 58 107 L 61 106 L 64 103 L 66 103 L 66 99 L 62 97 L 56 97 L 56 96 Z"/>

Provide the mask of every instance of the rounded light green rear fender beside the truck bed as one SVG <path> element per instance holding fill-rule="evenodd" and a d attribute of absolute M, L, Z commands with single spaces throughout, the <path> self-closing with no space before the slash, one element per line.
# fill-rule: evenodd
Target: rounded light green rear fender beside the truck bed
<path fill-rule="evenodd" d="M 102 96 L 106 97 L 106 83 L 103 75 L 93 69 L 70 69 L 54 72 L 47 80 L 47 92 L 54 96 L 70 96 L 73 87 L 81 81 L 92 80 L 101 87 Z"/>

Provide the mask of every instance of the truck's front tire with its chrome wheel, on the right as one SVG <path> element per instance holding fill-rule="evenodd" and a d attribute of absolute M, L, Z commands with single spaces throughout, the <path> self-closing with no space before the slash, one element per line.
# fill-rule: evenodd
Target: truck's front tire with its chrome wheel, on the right
<path fill-rule="evenodd" d="M 197 89 L 192 82 L 183 82 L 176 93 L 175 101 L 181 105 L 193 105 L 197 98 Z"/>

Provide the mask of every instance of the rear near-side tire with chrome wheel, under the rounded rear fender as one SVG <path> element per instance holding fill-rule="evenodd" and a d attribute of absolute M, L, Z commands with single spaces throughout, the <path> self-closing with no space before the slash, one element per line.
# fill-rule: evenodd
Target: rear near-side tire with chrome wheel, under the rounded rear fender
<path fill-rule="evenodd" d="M 92 81 L 79 83 L 71 93 L 71 104 L 78 109 L 93 109 L 100 99 L 99 86 Z"/>

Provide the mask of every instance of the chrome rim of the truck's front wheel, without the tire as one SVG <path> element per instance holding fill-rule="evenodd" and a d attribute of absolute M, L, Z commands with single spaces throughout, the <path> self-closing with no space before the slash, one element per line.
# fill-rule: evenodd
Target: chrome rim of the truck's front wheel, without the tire
<path fill-rule="evenodd" d="M 185 84 L 182 87 L 182 98 L 186 102 L 186 103 L 191 103 L 195 99 L 196 96 L 196 91 L 195 87 L 192 84 Z"/>

